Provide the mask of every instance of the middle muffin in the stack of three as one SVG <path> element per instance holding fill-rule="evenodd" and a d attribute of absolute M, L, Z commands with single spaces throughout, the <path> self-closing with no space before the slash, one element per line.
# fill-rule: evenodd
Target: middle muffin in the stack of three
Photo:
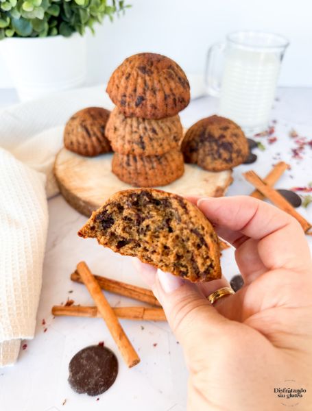
<path fill-rule="evenodd" d="M 161 155 L 178 149 L 183 131 L 179 116 L 161 120 L 125 117 L 115 108 L 106 125 L 113 151 L 132 155 Z"/>

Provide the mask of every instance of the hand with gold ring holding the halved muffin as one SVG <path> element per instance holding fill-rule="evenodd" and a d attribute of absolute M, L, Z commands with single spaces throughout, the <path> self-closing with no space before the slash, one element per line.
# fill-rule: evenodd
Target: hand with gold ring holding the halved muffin
<path fill-rule="evenodd" d="M 311 410 L 312 263 L 302 228 L 251 197 L 193 202 L 235 247 L 243 288 L 211 306 L 206 297 L 226 279 L 195 285 L 135 260 L 183 347 L 188 410 Z M 278 398 L 274 388 L 307 392 Z"/>

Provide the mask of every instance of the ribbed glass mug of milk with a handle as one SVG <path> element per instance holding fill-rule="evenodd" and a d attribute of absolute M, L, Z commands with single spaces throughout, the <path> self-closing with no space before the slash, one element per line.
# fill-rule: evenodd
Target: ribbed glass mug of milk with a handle
<path fill-rule="evenodd" d="M 288 45 L 277 34 L 235 32 L 208 51 L 208 93 L 219 97 L 218 114 L 238 123 L 247 135 L 267 129 Z"/>

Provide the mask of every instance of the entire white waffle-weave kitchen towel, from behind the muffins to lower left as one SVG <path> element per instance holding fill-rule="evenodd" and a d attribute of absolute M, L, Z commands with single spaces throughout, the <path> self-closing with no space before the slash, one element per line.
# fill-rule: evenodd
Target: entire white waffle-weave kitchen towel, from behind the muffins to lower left
<path fill-rule="evenodd" d="M 104 90 L 70 90 L 0 111 L 0 366 L 16 362 L 22 338 L 34 338 L 60 126 L 82 108 L 112 108 Z"/>

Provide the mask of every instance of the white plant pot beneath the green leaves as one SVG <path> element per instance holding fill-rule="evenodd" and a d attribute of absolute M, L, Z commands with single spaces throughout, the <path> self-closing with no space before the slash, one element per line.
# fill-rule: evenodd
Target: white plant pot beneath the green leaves
<path fill-rule="evenodd" d="M 0 50 L 21 101 L 58 90 L 82 86 L 86 81 L 86 38 L 5 38 Z"/>

